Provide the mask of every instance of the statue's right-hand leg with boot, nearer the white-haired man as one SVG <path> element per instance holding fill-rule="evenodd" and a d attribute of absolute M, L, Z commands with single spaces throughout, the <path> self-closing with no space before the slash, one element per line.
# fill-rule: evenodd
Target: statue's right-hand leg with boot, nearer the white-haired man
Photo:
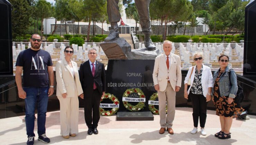
<path fill-rule="evenodd" d="M 150 38 L 151 27 L 149 18 L 149 3 L 150 0 L 135 0 L 135 5 L 139 14 L 139 23 L 144 33 L 144 44 L 148 50 L 155 50 L 156 46 Z"/>

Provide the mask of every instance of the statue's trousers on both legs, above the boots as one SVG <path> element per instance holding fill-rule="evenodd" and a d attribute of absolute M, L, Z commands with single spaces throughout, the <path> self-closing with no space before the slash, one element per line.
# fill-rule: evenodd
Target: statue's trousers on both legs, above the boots
<path fill-rule="evenodd" d="M 121 15 L 119 13 L 119 0 L 107 0 L 107 12 L 109 22 L 119 22 Z M 149 18 L 150 0 L 135 0 L 135 5 L 139 14 L 139 23 L 144 33 L 151 33 Z"/>

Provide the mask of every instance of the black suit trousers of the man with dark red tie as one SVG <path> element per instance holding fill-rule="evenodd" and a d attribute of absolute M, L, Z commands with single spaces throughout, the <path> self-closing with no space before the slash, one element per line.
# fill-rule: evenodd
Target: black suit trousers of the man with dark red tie
<path fill-rule="evenodd" d="M 100 120 L 100 99 L 98 89 L 93 90 L 92 96 L 84 96 L 84 119 L 88 128 L 97 128 Z"/>

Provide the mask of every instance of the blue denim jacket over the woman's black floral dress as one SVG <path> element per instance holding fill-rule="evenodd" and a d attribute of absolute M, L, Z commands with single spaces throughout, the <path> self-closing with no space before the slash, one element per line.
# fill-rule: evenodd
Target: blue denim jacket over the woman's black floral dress
<path fill-rule="evenodd" d="M 229 80 L 229 71 L 230 71 L 230 80 Z M 219 69 L 214 71 L 213 81 L 216 81 L 218 77 Z M 221 96 L 229 96 L 230 98 L 235 98 L 237 93 L 237 79 L 236 72 L 229 67 L 226 67 L 225 72 L 223 72 L 219 79 L 219 89 Z M 214 87 L 212 88 L 211 95 L 213 96 Z"/>

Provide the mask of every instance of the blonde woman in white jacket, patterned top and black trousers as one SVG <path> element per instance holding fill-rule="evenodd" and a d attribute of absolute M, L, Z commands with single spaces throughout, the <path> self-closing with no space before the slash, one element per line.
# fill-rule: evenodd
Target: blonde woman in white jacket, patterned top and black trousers
<path fill-rule="evenodd" d="M 184 97 L 188 99 L 190 96 L 193 107 L 194 128 L 190 132 L 195 134 L 198 132 L 198 119 L 200 120 L 201 134 L 206 135 L 204 125 L 206 121 L 207 103 L 211 100 L 211 90 L 213 87 L 212 72 L 210 67 L 203 65 L 203 53 L 196 52 L 193 56 L 195 66 L 190 67 L 188 74 L 184 80 Z M 191 76 L 191 77 L 190 77 Z M 191 85 L 188 89 L 188 81 Z"/>

